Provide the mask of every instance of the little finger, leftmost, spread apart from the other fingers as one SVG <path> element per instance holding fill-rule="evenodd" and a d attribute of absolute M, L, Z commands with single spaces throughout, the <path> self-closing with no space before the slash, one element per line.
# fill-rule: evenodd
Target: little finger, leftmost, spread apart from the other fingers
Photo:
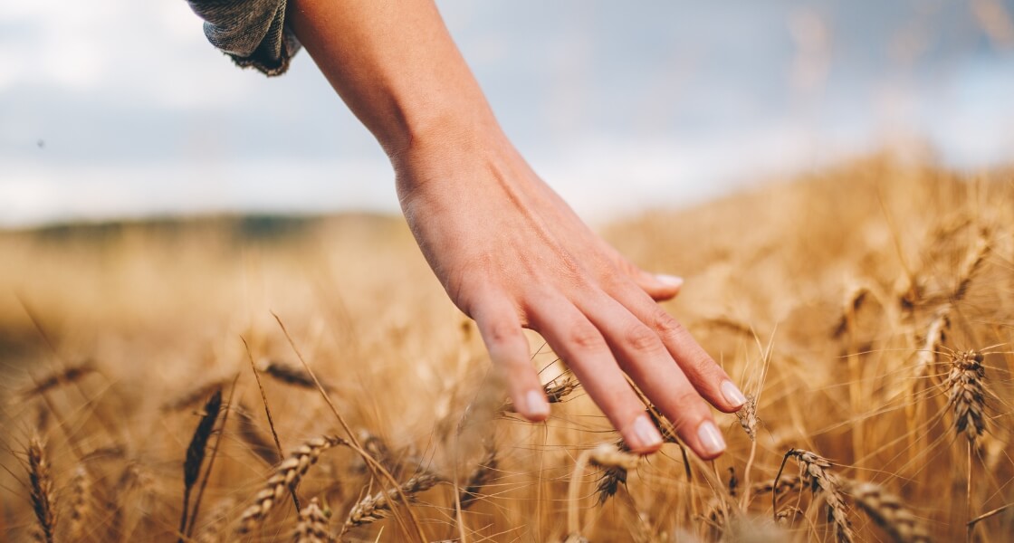
<path fill-rule="evenodd" d="M 504 373 L 507 391 L 517 412 L 531 421 L 546 420 L 550 416 L 550 403 L 531 366 L 528 340 L 521 329 L 517 310 L 504 298 L 490 298 L 477 304 L 472 316 L 490 352 L 490 359 Z"/>

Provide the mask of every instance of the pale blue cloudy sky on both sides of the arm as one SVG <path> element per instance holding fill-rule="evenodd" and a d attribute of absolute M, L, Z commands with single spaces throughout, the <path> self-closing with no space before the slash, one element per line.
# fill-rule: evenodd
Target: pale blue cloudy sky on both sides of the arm
<path fill-rule="evenodd" d="M 1014 0 L 438 0 L 508 136 L 595 222 L 883 148 L 1014 162 Z M 234 67 L 184 0 L 0 3 L 0 227 L 396 212 L 305 52 Z"/>

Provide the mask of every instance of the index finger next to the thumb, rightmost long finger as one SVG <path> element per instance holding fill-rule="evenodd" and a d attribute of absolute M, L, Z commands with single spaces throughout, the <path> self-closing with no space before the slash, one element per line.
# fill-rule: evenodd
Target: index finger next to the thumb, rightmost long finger
<path fill-rule="evenodd" d="M 715 363 L 686 328 L 634 285 L 612 281 L 606 286 L 606 294 L 661 339 L 690 383 L 712 405 L 731 413 L 746 403 L 746 397 L 729 374 Z"/>

